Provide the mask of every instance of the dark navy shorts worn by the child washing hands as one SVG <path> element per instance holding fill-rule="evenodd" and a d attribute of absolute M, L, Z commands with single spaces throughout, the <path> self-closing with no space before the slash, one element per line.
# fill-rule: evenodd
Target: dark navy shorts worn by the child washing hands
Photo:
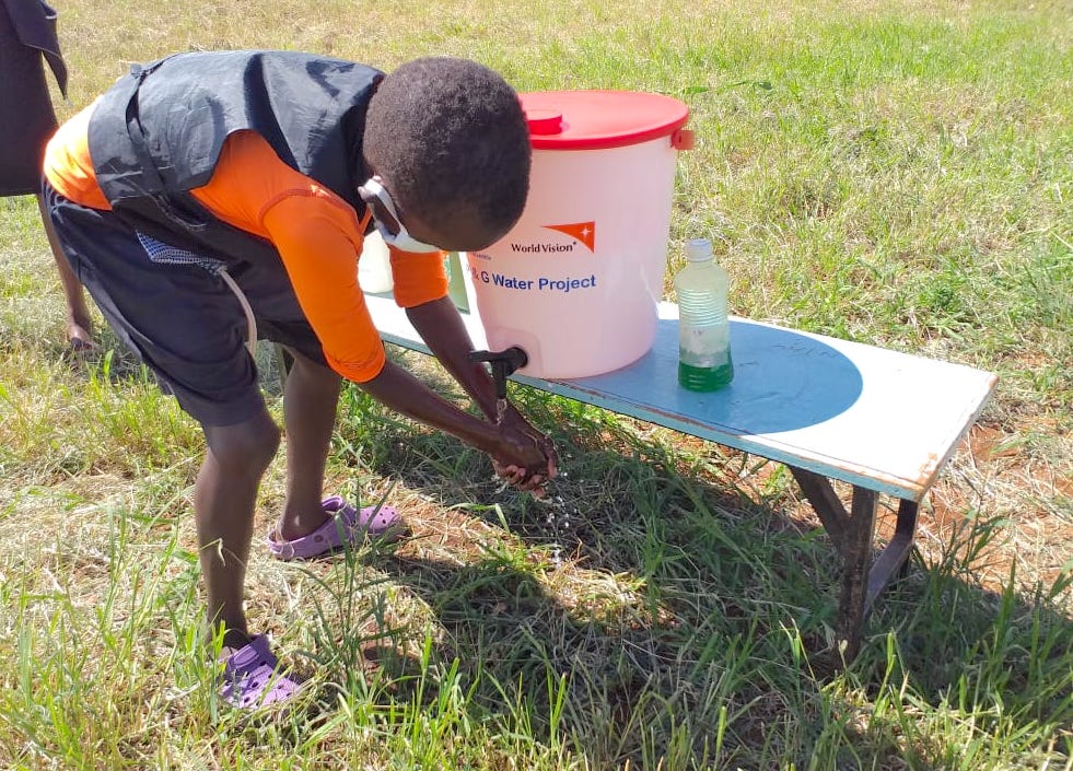
<path fill-rule="evenodd" d="M 150 260 L 138 233 L 109 211 L 44 185 L 63 254 L 123 342 L 202 425 L 233 425 L 264 400 L 246 349 L 246 316 L 223 279 L 197 265 Z M 224 260 L 257 319 L 258 337 L 327 366 L 282 262 Z"/>

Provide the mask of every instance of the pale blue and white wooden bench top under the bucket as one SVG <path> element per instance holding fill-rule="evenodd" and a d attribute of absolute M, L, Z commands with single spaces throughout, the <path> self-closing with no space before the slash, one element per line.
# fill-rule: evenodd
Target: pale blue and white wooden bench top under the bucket
<path fill-rule="evenodd" d="M 385 341 L 428 353 L 406 313 L 366 295 Z M 477 348 L 476 315 L 463 314 Z M 518 383 L 919 501 L 976 420 L 995 376 L 960 364 L 734 318 L 734 379 L 697 394 L 678 385 L 678 308 L 660 304 L 655 343 L 593 377 Z"/>

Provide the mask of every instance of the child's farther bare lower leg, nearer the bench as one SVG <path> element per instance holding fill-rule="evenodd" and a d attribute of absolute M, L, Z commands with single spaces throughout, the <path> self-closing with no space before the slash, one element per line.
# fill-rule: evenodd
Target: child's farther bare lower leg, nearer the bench
<path fill-rule="evenodd" d="M 289 349 L 294 358 L 283 392 L 287 434 L 287 500 L 279 533 L 284 540 L 306 536 L 327 522 L 320 509 L 324 467 L 336 423 L 341 378 Z"/>

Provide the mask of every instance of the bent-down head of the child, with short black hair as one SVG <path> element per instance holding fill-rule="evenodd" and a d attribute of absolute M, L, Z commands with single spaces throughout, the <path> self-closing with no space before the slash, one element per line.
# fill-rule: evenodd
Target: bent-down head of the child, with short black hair
<path fill-rule="evenodd" d="M 403 65 L 369 105 L 365 161 L 413 237 L 452 250 L 494 243 L 517 222 L 532 150 L 517 94 L 466 59 Z"/>

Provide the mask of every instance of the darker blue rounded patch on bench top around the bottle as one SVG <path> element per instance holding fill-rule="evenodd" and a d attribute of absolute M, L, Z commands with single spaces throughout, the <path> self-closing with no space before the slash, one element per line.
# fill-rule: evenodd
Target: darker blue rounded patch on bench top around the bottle
<path fill-rule="evenodd" d="M 734 381 L 721 390 L 698 394 L 678 385 L 678 325 L 661 319 L 655 344 L 639 361 L 604 375 L 560 383 L 592 394 L 590 400 L 608 409 L 637 417 L 644 417 L 639 412 L 646 410 L 673 414 L 669 422 L 684 424 L 686 431 L 690 420 L 743 435 L 793 431 L 841 414 L 861 396 L 861 372 L 826 340 L 735 319 L 731 325 Z"/>

